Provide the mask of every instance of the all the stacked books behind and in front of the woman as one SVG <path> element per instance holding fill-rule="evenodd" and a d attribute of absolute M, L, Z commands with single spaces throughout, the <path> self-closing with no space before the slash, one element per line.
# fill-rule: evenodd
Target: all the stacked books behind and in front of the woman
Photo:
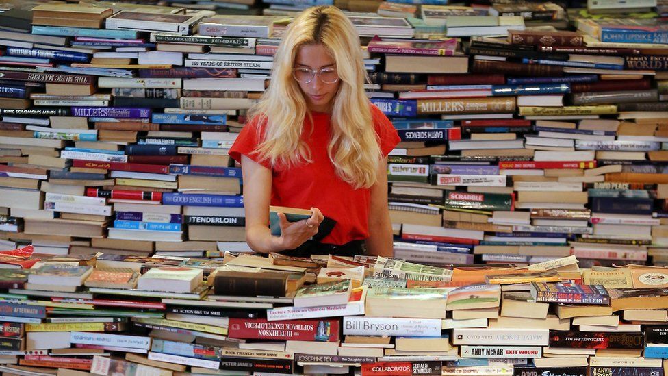
<path fill-rule="evenodd" d="M 323 4 L 402 138 L 394 258 L 244 242 L 227 151 Z M 3 375 L 664 375 L 665 0 L 0 10 Z"/>

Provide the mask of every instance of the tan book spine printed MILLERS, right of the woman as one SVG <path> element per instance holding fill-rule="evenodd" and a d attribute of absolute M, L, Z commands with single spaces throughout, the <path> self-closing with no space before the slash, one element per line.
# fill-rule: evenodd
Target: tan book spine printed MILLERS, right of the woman
<path fill-rule="evenodd" d="M 515 112 L 515 97 L 420 99 L 418 115 L 496 114 Z"/>

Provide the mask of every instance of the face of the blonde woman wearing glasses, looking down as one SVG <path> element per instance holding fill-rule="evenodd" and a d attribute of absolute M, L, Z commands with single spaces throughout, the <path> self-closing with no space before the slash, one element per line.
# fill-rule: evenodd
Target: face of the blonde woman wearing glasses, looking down
<path fill-rule="evenodd" d="M 303 45 L 297 51 L 293 68 L 309 68 L 313 71 L 320 71 L 322 68 L 336 70 L 336 62 L 324 45 Z M 326 81 L 332 81 L 331 73 L 324 77 L 316 74 L 308 83 L 297 81 L 312 112 L 331 112 L 341 79 L 337 79 L 333 84 L 328 84 Z"/>

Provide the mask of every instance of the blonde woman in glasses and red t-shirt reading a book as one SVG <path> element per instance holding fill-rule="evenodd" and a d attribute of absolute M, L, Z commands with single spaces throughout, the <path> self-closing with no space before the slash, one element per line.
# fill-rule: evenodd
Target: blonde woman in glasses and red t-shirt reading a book
<path fill-rule="evenodd" d="M 365 97 L 359 36 L 333 6 L 290 24 L 272 80 L 229 154 L 244 177 L 246 240 L 261 253 L 392 254 L 387 153 L 399 137 Z M 272 236 L 269 205 L 311 210 Z"/>

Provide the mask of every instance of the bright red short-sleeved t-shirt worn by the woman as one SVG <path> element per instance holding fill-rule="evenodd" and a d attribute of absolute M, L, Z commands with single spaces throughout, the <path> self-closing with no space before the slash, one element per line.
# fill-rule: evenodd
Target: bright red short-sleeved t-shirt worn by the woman
<path fill-rule="evenodd" d="M 391 121 L 375 105 L 370 104 L 372 121 L 383 156 L 387 155 L 399 143 L 400 138 Z M 261 162 L 272 169 L 271 205 L 290 208 L 318 208 L 322 215 L 332 218 L 336 225 L 331 233 L 321 242 L 343 245 L 351 240 L 368 238 L 368 218 L 370 209 L 370 189 L 353 189 L 350 184 L 336 175 L 334 165 L 327 155 L 330 138 L 331 114 L 312 112 L 311 121 L 305 118 L 303 140 L 311 151 L 312 163 L 301 162 L 292 168 L 275 166 L 271 168 L 266 161 Z M 250 121 L 237 137 L 229 150 L 229 155 L 241 162 L 241 155 L 259 162 L 257 153 L 257 122 Z"/>

